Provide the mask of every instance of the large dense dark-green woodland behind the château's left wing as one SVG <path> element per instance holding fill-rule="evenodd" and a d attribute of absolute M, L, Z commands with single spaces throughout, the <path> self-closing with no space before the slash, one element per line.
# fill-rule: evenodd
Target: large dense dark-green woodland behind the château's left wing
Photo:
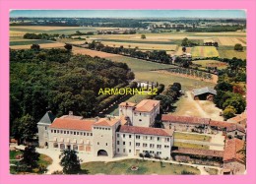
<path fill-rule="evenodd" d="M 66 49 L 10 49 L 10 61 L 11 128 L 28 114 L 36 126 L 47 110 L 57 116 L 70 110 L 75 115 L 95 116 L 100 88 L 134 79 L 125 63 L 73 55 Z"/>

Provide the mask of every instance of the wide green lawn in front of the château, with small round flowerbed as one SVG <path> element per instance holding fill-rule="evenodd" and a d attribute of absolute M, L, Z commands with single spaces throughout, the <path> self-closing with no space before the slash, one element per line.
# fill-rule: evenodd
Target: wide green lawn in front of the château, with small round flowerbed
<path fill-rule="evenodd" d="M 177 175 L 182 174 L 182 171 L 200 174 L 200 171 L 191 166 L 160 163 L 159 160 L 150 161 L 142 159 L 124 159 L 120 161 L 95 161 L 82 163 L 82 169 L 88 174 L 112 174 L 112 175 L 136 175 L 136 174 L 160 174 L 160 175 Z M 131 167 L 137 166 L 138 170 L 132 171 Z"/>

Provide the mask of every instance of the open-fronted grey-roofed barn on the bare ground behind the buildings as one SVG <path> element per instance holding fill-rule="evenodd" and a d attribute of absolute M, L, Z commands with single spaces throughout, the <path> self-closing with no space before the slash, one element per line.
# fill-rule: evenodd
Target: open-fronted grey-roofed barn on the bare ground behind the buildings
<path fill-rule="evenodd" d="M 211 89 L 209 87 L 202 89 L 194 89 L 193 95 L 195 100 L 210 100 L 214 99 L 214 96 L 217 94 L 216 90 Z"/>

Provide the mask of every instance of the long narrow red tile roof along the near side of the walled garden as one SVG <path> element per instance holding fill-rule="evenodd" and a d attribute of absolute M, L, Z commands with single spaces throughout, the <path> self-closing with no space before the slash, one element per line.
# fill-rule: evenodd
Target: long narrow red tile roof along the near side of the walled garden
<path fill-rule="evenodd" d="M 178 148 L 178 150 L 172 151 L 172 153 L 185 153 L 185 154 L 195 154 L 195 155 L 209 155 L 223 157 L 223 151 L 211 151 L 203 149 L 187 149 L 187 148 Z"/>

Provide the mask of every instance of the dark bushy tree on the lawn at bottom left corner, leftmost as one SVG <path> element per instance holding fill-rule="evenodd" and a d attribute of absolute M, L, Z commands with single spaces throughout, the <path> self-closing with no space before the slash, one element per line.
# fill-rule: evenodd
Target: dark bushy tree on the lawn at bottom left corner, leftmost
<path fill-rule="evenodd" d="M 39 153 L 36 153 L 34 146 L 27 146 L 23 153 L 22 163 L 26 164 L 29 168 L 34 168 L 37 166 L 39 155 Z"/>

